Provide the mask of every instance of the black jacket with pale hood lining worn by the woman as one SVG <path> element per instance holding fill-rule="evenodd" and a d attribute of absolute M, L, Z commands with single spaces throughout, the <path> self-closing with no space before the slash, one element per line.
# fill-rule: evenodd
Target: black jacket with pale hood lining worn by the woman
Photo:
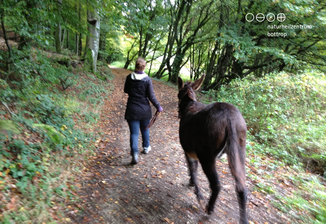
<path fill-rule="evenodd" d="M 148 76 L 141 80 L 132 79 L 131 74 L 126 78 L 125 93 L 128 93 L 127 108 L 125 113 L 126 120 L 149 120 L 152 118 L 152 110 L 149 101 L 158 109 L 158 103 L 152 79 Z"/>

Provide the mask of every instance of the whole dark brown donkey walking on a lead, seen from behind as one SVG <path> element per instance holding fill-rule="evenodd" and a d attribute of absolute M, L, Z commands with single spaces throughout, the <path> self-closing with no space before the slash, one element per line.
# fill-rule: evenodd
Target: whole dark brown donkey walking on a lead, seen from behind
<path fill-rule="evenodd" d="M 203 206 L 205 198 L 197 184 L 197 166 L 200 161 L 212 189 L 207 210 L 208 214 L 212 214 L 221 189 L 215 160 L 222 152 L 225 152 L 235 178 L 240 224 L 248 224 L 245 185 L 247 126 L 240 111 L 232 104 L 217 102 L 204 105 L 196 101 L 195 91 L 200 88 L 204 77 L 185 84 L 180 77 L 178 78 L 179 116 L 181 118 L 179 137 L 189 164 L 190 185 L 195 186 L 198 200 Z"/>

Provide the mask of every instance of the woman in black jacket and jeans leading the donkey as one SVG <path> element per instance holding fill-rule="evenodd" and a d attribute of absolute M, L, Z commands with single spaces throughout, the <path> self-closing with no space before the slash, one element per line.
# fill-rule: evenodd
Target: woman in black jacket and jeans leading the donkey
<path fill-rule="evenodd" d="M 145 129 L 152 118 L 149 101 L 161 112 L 163 108 L 158 103 L 153 89 L 152 79 L 144 73 L 146 62 L 143 58 L 136 61 L 135 71 L 127 76 L 125 93 L 128 93 L 125 119 L 130 130 L 131 164 L 138 161 L 138 135 L 141 129 L 143 153 L 147 154 L 152 148 L 149 144 L 149 129 Z"/>

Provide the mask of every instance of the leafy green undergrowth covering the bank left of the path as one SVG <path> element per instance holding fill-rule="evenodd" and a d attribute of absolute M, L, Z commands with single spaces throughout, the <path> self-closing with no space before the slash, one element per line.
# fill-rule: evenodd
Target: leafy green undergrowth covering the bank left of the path
<path fill-rule="evenodd" d="M 98 67 L 98 78 L 82 63 L 69 65 L 77 60 L 73 55 L 37 49 L 31 55 L 14 63 L 10 81 L 1 86 L 2 223 L 69 221 L 62 210 L 68 201 L 78 213 L 68 182 L 96 147 L 97 120 L 111 92 L 107 67 Z"/>

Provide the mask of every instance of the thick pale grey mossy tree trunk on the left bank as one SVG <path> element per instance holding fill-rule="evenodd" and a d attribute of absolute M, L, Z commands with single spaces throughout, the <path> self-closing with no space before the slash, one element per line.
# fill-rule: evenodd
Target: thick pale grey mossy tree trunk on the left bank
<path fill-rule="evenodd" d="M 94 73 L 96 72 L 96 62 L 100 39 L 100 17 L 97 9 L 94 12 L 87 11 L 88 30 L 91 34 L 87 44 L 87 53 L 85 58 L 86 66 Z"/>

